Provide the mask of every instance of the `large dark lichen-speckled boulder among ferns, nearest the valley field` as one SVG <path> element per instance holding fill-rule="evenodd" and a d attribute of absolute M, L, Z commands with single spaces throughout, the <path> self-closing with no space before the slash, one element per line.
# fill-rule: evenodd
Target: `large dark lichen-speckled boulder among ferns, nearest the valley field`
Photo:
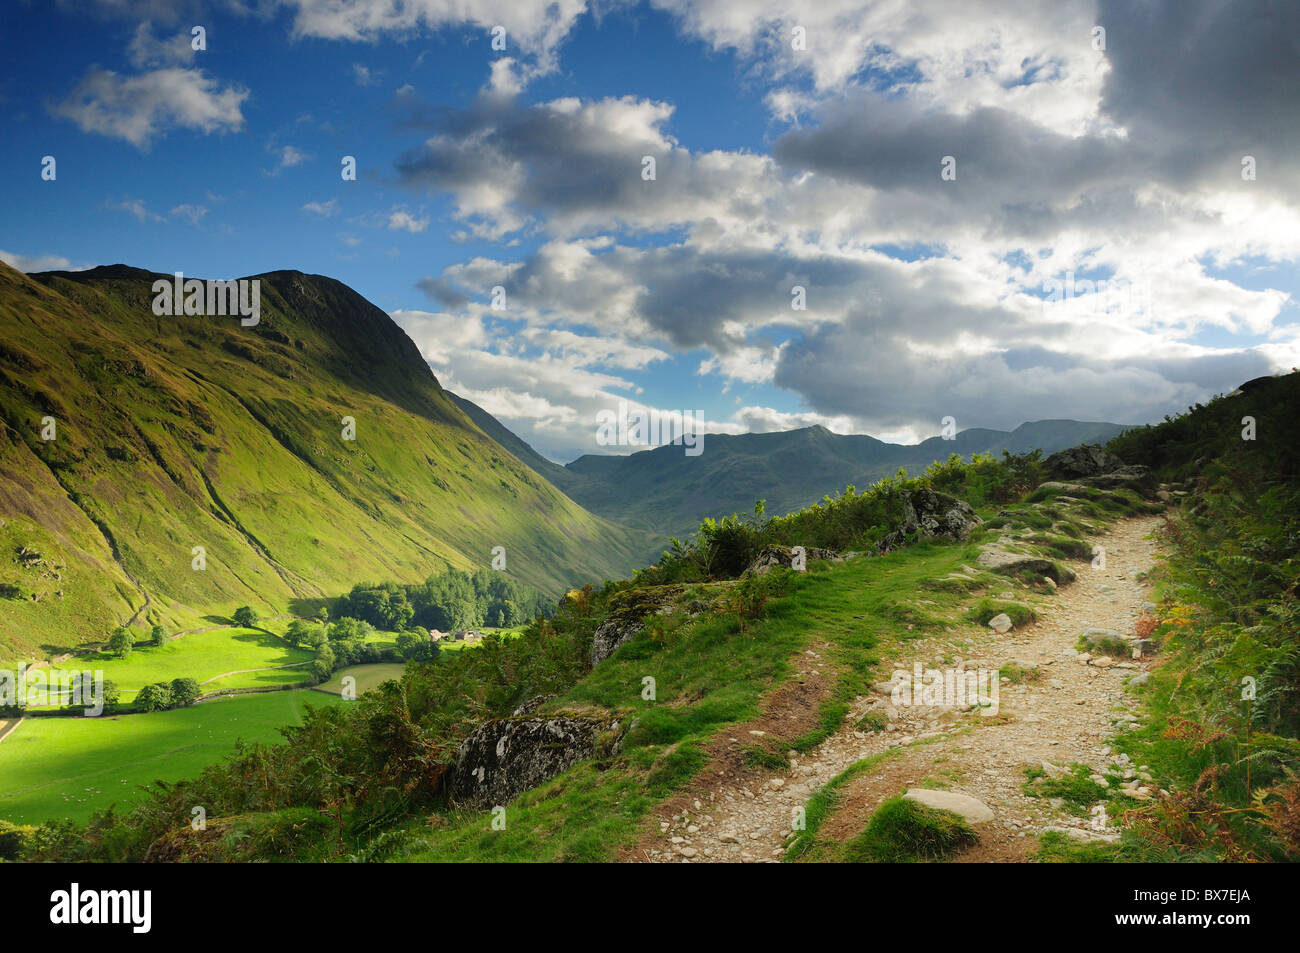
<path fill-rule="evenodd" d="M 615 754 L 625 728 L 611 715 L 533 714 L 545 697 L 510 718 L 484 722 L 460 744 L 448 793 L 462 807 L 510 803 L 580 761 Z"/>

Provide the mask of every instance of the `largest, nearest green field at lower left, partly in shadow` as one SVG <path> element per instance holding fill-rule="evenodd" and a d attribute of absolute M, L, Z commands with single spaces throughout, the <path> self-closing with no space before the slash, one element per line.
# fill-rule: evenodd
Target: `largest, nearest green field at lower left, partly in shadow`
<path fill-rule="evenodd" d="M 278 741 L 303 706 L 338 698 L 308 689 L 221 698 L 190 709 L 104 718 L 27 718 L 0 744 L 0 818 L 84 822 L 155 780 L 198 775 L 235 741 Z"/>

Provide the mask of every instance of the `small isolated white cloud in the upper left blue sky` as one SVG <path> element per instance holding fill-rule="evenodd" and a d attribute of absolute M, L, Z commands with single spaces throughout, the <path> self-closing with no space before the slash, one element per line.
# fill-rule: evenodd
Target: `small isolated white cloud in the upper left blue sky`
<path fill-rule="evenodd" d="M 198 69 L 170 66 L 124 77 L 96 68 L 52 112 L 72 120 L 84 133 L 125 139 L 147 150 L 172 127 L 204 134 L 243 129 L 242 107 L 247 98 L 247 90 L 235 85 L 224 87 Z"/>

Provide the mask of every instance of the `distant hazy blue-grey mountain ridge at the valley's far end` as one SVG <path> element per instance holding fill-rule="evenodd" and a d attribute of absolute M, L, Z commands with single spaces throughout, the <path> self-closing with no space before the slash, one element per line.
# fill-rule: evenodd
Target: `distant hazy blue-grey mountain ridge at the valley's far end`
<path fill-rule="evenodd" d="M 1002 450 L 1044 455 L 1079 443 L 1105 443 L 1121 424 L 1037 420 L 1014 430 L 972 428 L 953 439 L 931 437 L 916 445 L 885 443 L 866 434 L 836 434 L 824 426 L 745 434 L 706 434 L 703 451 L 686 456 L 681 446 L 628 455 L 586 454 L 560 467 L 519 439 L 490 413 L 464 398 L 452 399 L 520 460 L 537 469 L 594 514 L 655 532 L 659 540 L 694 532 L 706 516 L 750 512 L 767 501 L 777 516 L 801 510 L 849 484 L 864 489 L 900 467 L 924 469 L 950 454 Z M 502 432 L 506 436 L 498 436 Z"/>

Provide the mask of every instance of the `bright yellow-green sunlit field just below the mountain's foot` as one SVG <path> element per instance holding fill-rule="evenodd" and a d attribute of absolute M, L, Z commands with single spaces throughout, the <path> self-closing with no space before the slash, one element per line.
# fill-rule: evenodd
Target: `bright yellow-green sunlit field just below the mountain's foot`
<path fill-rule="evenodd" d="M 164 646 L 136 644 L 125 659 L 108 653 L 81 655 L 53 666 L 53 671 L 103 671 L 121 689 L 122 701 L 130 702 L 144 685 L 172 679 L 198 679 L 204 692 L 292 685 L 307 680 L 306 666 L 277 666 L 311 660 L 311 651 L 292 649 L 261 629 L 220 628 L 194 632 Z"/>

